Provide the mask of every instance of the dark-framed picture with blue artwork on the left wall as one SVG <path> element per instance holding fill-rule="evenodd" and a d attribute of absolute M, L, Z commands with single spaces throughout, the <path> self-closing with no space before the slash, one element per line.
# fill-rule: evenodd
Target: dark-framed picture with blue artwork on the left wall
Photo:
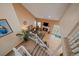
<path fill-rule="evenodd" d="M 6 19 L 0 19 L 0 37 L 12 33 L 12 29 Z"/>

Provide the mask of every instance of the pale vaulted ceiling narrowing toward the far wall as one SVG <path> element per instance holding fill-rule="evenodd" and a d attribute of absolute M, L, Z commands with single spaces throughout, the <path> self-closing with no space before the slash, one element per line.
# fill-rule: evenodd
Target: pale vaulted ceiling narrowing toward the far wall
<path fill-rule="evenodd" d="M 69 4 L 67 3 L 23 3 L 36 18 L 60 20 Z"/>

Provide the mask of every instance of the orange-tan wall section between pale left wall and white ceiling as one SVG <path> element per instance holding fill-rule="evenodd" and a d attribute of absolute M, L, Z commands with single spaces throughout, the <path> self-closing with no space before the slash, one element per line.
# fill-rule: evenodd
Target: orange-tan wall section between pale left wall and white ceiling
<path fill-rule="evenodd" d="M 13 6 L 19 18 L 20 25 L 23 25 L 24 21 L 27 22 L 27 25 L 34 25 L 35 17 L 24 6 L 21 4 L 13 4 Z"/>

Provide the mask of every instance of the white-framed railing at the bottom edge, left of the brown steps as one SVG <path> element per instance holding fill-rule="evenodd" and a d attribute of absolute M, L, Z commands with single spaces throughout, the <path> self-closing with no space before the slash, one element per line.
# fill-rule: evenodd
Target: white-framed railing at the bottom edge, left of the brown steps
<path fill-rule="evenodd" d="M 31 56 L 24 46 L 20 46 L 17 49 L 13 48 L 13 51 L 15 52 L 15 56 Z"/>

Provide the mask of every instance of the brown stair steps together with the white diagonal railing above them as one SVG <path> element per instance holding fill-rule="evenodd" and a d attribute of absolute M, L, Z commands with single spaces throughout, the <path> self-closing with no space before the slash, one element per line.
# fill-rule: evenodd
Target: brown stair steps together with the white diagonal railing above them
<path fill-rule="evenodd" d="M 29 38 L 35 41 L 36 45 L 30 54 L 32 56 L 49 56 L 49 54 L 47 53 L 48 47 L 46 46 L 46 44 L 41 40 L 41 38 L 37 34 L 34 33 L 31 34 L 34 35 L 35 38 L 34 39 L 33 37 Z"/>

